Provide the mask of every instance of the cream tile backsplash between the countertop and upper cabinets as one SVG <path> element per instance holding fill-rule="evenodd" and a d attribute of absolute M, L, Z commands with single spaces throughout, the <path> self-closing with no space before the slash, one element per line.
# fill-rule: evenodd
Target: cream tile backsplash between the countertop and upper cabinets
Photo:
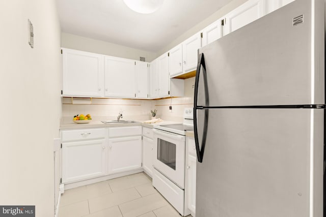
<path fill-rule="evenodd" d="M 127 100 L 99 98 L 62 98 L 62 121 L 71 121 L 76 114 L 91 114 L 94 120 L 103 118 L 115 119 L 120 111 L 123 119 L 148 120 L 150 110 L 157 109 L 156 117 L 164 120 L 183 120 L 183 110 L 193 107 L 195 78 L 189 78 L 184 83 L 184 97 L 163 100 Z M 172 110 L 169 109 L 170 105 Z"/>

